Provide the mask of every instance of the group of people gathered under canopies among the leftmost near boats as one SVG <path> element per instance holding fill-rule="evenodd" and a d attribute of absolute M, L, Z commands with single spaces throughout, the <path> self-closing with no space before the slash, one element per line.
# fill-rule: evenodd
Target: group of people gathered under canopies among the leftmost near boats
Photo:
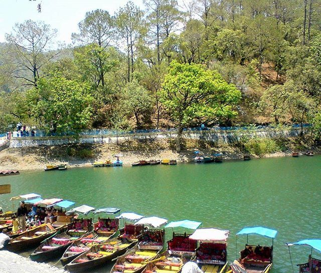
<path fill-rule="evenodd" d="M 54 207 L 42 208 L 33 205 L 31 209 L 26 207 L 24 201 L 20 202 L 17 213 L 12 216 L 13 233 L 25 231 L 28 228 L 39 226 L 44 223 L 53 223 L 57 216 L 57 210 Z"/>

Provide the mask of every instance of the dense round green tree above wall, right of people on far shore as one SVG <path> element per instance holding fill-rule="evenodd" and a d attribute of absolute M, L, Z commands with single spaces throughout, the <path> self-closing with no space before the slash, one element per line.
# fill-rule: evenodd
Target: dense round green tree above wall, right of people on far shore
<path fill-rule="evenodd" d="M 27 102 L 31 116 L 41 127 L 57 133 L 77 133 L 90 125 L 93 100 L 90 93 L 88 83 L 56 75 L 39 80 L 38 87 L 28 91 Z"/>

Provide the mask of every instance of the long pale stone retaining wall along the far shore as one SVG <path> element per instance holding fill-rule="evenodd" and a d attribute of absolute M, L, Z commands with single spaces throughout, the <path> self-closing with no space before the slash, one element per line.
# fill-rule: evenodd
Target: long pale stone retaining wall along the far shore
<path fill-rule="evenodd" d="M 292 138 L 300 134 L 300 129 L 291 128 L 286 130 L 261 129 L 261 130 L 207 130 L 207 131 L 185 131 L 183 138 L 205 140 L 231 144 L 239 141 L 242 136 L 256 135 L 259 138 Z M 153 132 L 153 133 L 131 133 L 118 136 L 119 142 L 128 140 L 155 140 L 176 138 L 177 132 Z M 10 148 L 54 146 L 74 143 L 109 144 L 116 143 L 115 135 L 81 135 L 73 137 L 23 137 L 12 138 Z"/>

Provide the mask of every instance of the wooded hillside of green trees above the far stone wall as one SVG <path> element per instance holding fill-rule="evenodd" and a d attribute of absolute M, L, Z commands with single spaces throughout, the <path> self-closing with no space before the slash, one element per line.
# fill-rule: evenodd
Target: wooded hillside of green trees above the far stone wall
<path fill-rule="evenodd" d="M 0 130 L 303 123 L 321 127 L 321 0 L 144 0 L 89 11 L 56 40 L 0 44 Z M 44 7 L 43 7 L 44 8 Z"/>

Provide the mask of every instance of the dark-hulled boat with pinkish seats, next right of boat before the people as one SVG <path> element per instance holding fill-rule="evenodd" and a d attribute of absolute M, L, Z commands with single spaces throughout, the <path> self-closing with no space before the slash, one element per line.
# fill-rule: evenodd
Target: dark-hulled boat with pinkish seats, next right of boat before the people
<path fill-rule="evenodd" d="M 74 229 L 74 224 L 69 226 L 69 229 Z M 73 243 L 73 241 L 83 237 L 79 234 L 72 235 L 69 230 L 63 233 L 56 233 L 53 236 L 46 239 L 40 246 L 38 246 L 33 253 L 30 254 L 30 258 L 34 261 L 45 261 L 58 256 L 61 256 L 66 248 Z"/>

